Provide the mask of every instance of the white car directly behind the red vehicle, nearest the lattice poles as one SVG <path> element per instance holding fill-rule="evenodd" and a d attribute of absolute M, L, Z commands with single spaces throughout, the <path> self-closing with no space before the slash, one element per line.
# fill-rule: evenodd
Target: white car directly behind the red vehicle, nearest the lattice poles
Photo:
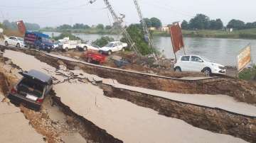
<path fill-rule="evenodd" d="M 100 47 L 99 52 L 105 53 L 107 55 L 111 55 L 112 52 L 124 51 L 125 47 L 127 47 L 127 43 L 114 41 L 114 42 L 108 43 L 104 47 Z"/>

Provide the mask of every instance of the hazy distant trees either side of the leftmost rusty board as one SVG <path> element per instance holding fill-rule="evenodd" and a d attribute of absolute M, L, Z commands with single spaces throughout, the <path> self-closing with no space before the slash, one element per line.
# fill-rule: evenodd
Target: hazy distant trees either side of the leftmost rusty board
<path fill-rule="evenodd" d="M 26 26 L 26 30 L 39 30 L 40 25 L 36 23 L 24 23 Z M 16 22 L 10 22 L 8 20 L 4 20 L 2 25 L 4 28 L 9 28 L 11 30 L 18 30 L 17 23 Z"/>

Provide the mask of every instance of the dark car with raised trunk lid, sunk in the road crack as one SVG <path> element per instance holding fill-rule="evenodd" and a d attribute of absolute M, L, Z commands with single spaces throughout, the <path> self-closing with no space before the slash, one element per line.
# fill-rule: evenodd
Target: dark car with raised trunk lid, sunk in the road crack
<path fill-rule="evenodd" d="M 8 98 L 14 103 L 23 103 L 28 108 L 39 110 L 43 100 L 53 88 L 53 79 L 36 70 L 20 74 L 23 78 L 11 88 Z"/>

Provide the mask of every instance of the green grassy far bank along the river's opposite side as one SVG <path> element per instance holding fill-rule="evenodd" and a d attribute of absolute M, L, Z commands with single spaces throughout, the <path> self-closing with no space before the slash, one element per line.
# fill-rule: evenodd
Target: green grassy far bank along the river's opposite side
<path fill-rule="evenodd" d="M 99 35 L 119 35 L 119 30 L 74 29 L 74 30 L 41 30 L 42 32 L 58 33 L 85 33 Z M 232 33 L 223 30 L 182 30 L 185 38 L 230 38 L 230 39 L 256 39 L 256 28 L 234 30 Z M 169 32 L 154 31 L 154 36 L 169 37 Z"/>

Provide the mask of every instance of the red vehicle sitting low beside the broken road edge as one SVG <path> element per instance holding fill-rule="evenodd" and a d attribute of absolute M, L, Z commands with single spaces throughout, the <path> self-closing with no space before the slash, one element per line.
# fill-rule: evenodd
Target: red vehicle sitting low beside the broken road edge
<path fill-rule="evenodd" d="M 97 51 L 88 50 L 84 52 L 84 58 L 85 58 L 85 61 L 89 63 L 96 62 L 99 64 L 103 64 L 105 62 L 106 56 L 100 54 Z"/>

